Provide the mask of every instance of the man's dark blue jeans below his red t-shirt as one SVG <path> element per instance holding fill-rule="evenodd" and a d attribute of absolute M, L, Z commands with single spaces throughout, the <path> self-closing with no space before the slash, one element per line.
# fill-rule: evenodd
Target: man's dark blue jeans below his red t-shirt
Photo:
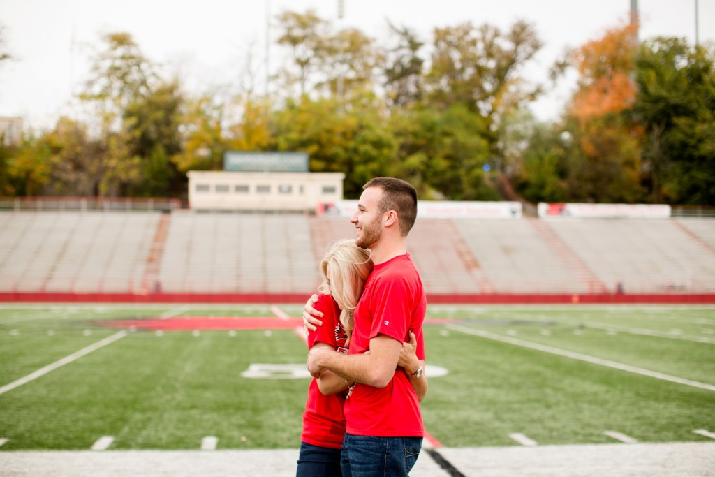
<path fill-rule="evenodd" d="M 344 477 L 407 476 L 422 448 L 421 437 L 345 434 L 340 466 Z"/>

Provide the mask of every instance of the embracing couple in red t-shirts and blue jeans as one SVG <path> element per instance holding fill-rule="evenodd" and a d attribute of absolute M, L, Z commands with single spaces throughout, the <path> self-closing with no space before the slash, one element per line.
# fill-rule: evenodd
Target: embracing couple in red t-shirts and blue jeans
<path fill-rule="evenodd" d="M 405 245 L 416 216 L 412 185 L 370 180 L 350 218 L 356 239 L 335 242 L 321 262 L 320 294 L 303 314 L 314 379 L 298 477 L 407 476 L 417 461 L 427 303 Z"/>

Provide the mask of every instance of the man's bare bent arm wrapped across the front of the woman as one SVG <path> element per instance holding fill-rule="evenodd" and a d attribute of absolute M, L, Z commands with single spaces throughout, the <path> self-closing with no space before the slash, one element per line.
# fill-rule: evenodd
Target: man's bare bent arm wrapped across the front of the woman
<path fill-rule="evenodd" d="M 370 340 L 368 354 L 343 355 L 325 347 L 314 347 L 308 353 L 308 370 L 310 374 L 320 376 L 327 369 L 349 381 L 384 388 L 393 379 L 400 348 L 400 341 L 386 335 Z"/>

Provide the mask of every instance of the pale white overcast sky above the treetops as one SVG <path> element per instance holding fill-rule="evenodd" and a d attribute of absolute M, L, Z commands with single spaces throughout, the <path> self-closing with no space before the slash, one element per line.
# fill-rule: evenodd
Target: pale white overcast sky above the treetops
<path fill-rule="evenodd" d="M 566 47 L 597 39 L 628 19 L 631 0 L 0 0 L 4 48 L 14 60 L 0 63 L 0 116 L 23 117 L 31 127 L 51 127 L 71 114 L 70 99 L 87 78 L 88 59 L 102 33 L 127 31 L 145 56 L 178 74 L 187 88 L 204 91 L 237 81 L 247 62 L 265 70 L 269 16 L 314 9 L 336 26 L 357 27 L 385 39 L 387 20 L 408 26 L 429 44 L 436 27 L 465 21 L 508 29 L 524 19 L 544 43 L 530 77 L 546 72 Z M 698 5 L 699 40 L 715 41 L 715 0 L 638 0 L 641 39 L 684 36 L 694 43 Z M 270 15 L 269 15 L 270 12 Z M 280 59 L 268 55 L 270 69 Z M 571 81 L 571 83 L 569 83 Z M 539 119 L 554 119 L 573 79 L 538 101 Z"/>

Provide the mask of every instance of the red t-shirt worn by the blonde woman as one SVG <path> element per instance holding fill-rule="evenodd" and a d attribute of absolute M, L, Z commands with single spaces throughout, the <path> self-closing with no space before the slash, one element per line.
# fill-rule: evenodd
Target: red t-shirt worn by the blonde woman
<path fill-rule="evenodd" d="M 335 300 L 330 295 L 318 295 L 318 301 L 313 308 L 321 311 L 323 318 L 322 326 L 308 333 L 308 349 L 321 342 L 340 353 L 347 353 L 347 335 L 340 325 L 340 308 Z M 323 395 L 314 378 L 308 388 L 300 440 L 313 446 L 339 449 L 342 446 L 342 438 L 345 437 L 345 415 L 342 413 L 344 404 L 345 393 Z"/>

